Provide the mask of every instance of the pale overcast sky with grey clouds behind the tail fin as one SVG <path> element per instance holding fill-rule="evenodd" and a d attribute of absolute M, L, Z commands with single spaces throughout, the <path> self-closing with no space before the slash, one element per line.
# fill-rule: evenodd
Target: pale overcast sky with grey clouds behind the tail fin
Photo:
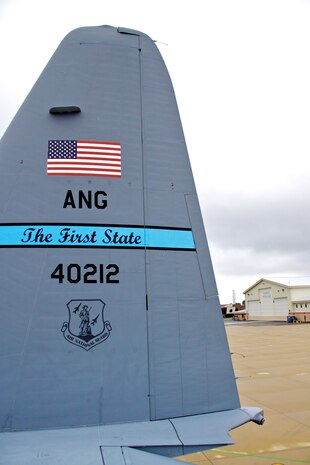
<path fill-rule="evenodd" d="M 101 24 L 159 41 L 221 302 L 310 283 L 310 0 L 0 0 L 0 136 L 62 38 Z"/>

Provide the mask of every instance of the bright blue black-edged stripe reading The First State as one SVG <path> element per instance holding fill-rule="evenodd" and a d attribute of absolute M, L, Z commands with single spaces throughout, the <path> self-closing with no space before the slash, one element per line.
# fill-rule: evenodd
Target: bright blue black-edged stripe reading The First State
<path fill-rule="evenodd" d="M 188 229 L 98 225 L 0 225 L 0 247 L 118 247 L 195 250 Z"/>

